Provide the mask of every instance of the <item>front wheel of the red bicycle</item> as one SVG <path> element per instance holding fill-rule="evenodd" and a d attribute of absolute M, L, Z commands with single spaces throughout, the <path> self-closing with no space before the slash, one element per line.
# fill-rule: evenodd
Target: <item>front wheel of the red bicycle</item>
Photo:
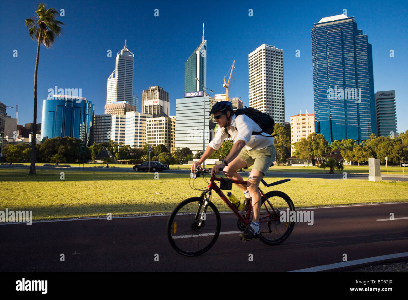
<path fill-rule="evenodd" d="M 185 256 L 198 256 L 208 251 L 218 238 L 221 218 L 217 207 L 202 198 L 182 201 L 167 221 L 167 236 L 171 246 Z"/>

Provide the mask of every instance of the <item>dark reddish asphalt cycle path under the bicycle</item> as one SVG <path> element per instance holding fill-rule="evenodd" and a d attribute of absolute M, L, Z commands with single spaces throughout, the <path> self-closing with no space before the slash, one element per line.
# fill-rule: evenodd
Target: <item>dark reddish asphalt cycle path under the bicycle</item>
<path fill-rule="evenodd" d="M 222 234 L 197 257 L 171 247 L 168 216 L 4 223 L 0 271 L 319 271 L 323 265 L 344 271 L 356 267 L 348 264 L 373 264 L 367 259 L 376 256 L 386 257 L 375 261 L 408 258 L 408 203 L 309 210 L 313 225 L 297 222 L 280 245 L 243 243 L 238 233 Z M 221 232 L 237 231 L 236 224 L 233 213 L 221 214 Z"/>

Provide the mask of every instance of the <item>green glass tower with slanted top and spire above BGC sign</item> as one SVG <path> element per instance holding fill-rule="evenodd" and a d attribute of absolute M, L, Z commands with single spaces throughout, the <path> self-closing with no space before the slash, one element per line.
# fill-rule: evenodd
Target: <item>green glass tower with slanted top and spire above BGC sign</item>
<path fill-rule="evenodd" d="M 195 80 L 198 78 L 204 87 L 207 87 L 207 40 L 203 36 L 201 44 L 195 48 L 188 60 L 184 63 L 184 93 L 202 91 L 202 85 Z"/>

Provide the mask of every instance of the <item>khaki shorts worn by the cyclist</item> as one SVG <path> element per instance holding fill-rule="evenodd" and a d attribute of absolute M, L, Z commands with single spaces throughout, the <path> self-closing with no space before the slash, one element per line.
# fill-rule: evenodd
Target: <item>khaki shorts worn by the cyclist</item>
<path fill-rule="evenodd" d="M 265 175 L 266 171 L 275 161 L 276 150 L 273 144 L 260 150 L 247 150 L 244 147 L 241 152 L 239 152 L 238 157 L 245 160 L 247 168 L 254 165 L 253 169 L 258 170 Z"/>

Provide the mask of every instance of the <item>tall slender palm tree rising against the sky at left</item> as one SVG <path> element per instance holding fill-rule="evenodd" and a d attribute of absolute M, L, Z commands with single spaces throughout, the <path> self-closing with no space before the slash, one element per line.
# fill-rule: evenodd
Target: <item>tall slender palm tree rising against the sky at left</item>
<path fill-rule="evenodd" d="M 61 34 L 61 25 L 64 23 L 55 20 L 59 14 L 54 8 L 46 9 L 44 3 L 38 5 L 38 10 L 35 11 L 37 16 L 25 19 L 26 26 L 29 28 L 29 35 L 32 40 L 37 40 L 37 58 L 35 59 L 34 70 L 34 122 L 33 122 L 33 139 L 31 141 L 31 165 L 30 175 L 35 174 L 35 133 L 37 132 L 37 71 L 38 60 L 40 58 L 40 44 L 44 44 L 49 48 L 54 43 L 55 37 Z"/>

